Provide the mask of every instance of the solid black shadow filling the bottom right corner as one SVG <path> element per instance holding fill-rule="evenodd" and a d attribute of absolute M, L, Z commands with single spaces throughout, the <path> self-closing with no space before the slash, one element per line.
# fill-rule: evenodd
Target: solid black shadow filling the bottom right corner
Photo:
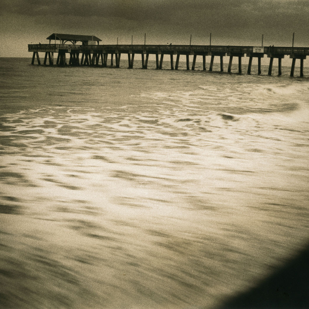
<path fill-rule="evenodd" d="M 309 245 L 293 260 L 248 292 L 228 299 L 219 309 L 308 309 Z"/>

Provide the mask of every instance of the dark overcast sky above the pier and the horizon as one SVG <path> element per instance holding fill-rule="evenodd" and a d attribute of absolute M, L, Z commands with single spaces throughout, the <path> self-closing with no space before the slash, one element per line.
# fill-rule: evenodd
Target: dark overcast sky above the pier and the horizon
<path fill-rule="evenodd" d="M 101 44 L 309 46 L 309 0 L 0 0 L 0 57 L 31 57 L 52 33 Z M 12 45 L 14 43 L 14 45 Z M 15 47 L 17 46 L 17 48 Z"/>

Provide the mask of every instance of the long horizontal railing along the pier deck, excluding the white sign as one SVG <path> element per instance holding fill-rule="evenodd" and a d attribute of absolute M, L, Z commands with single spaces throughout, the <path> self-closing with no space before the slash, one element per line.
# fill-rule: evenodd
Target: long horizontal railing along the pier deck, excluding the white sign
<path fill-rule="evenodd" d="M 309 55 L 309 47 L 265 46 L 263 54 Z M 29 44 L 29 52 L 58 52 L 59 50 L 96 53 L 150 53 L 150 54 L 206 54 L 214 53 L 252 53 L 253 46 L 228 45 L 73 45 L 73 44 Z"/>

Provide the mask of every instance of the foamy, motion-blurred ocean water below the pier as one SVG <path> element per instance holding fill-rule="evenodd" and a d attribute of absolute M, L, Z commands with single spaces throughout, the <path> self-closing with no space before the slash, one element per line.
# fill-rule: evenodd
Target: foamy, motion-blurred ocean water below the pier
<path fill-rule="evenodd" d="M 1 308 L 216 308 L 307 247 L 307 68 L 30 62 L 0 58 Z"/>

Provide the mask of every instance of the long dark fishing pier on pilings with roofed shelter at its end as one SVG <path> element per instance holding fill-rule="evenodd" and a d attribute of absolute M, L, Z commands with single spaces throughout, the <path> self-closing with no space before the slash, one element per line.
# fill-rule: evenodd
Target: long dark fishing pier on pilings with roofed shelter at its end
<path fill-rule="evenodd" d="M 253 59 L 257 59 L 258 74 L 261 74 L 261 58 L 266 55 L 269 58 L 268 74 L 272 75 L 273 60 L 278 59 L 278 75 L 281 75 L 281 59 L 289 56 L 292 59 L 290 76 L 294 76 L 296 60 L 300 61 L 300 77 L 303 77 L 303 61 L 309 55 L 309 47 L 277 47 L 277 46 L 227 46 L 227 45 L 102 45 L 96 36 L 79 36 L 69 34 L 50 35 L 47 40 L 49 44 L 28 44 L 28 51 L 32 52 L 32 62 L 40 65 L 39 53 L 45 53 L 44 65 L 54 65 L 54 54 L 57 53 L 56 65 L 58 66 L 108 66 L 108 55 L 110 54 L 110 66 L 120 67 L 121 54 L 128 56 L 128 68 L 132 69 L 134 64 L 134 55 L 140 54 L 142 58 L 142 68 L 147 69 L 148 57 L 155 55 L 156 69 L 161 70 L 163 66 L 163 57 L 170 57 L 171 70 L 178 70 L 180 55 L 186 56 L 187 70 L 190 70 L 189 56 L 193 56 L 191 70 L 195 69 L 197 56 L 203 60 L 203 70 L 206 70 L 206 56 L 210 56 L 209 71 L 213 70 L 214 57 L 220 57 L 220 71 L 223 72 L 223 57 L 229 57 L 227 72 L 231 73 L 232 61 L 234 57 L 238 58 L 238 73 L 242 73 L 242 58 L 249 57 L 247 74 L 251 74 Z M 52 44 L 52 40 L 55 44 Z M 59 44 L 57 43 L 59 40 Z M 71 43 L 71 44 L 68 44 Z M 81 44 L 76 44 L 81 42 Z M 294 42 L 294 40 L 293 40 Z M 176 62 L 174 66 L 174 57 Z M 68 60 L 67 60 L 68 59 Z"/>

